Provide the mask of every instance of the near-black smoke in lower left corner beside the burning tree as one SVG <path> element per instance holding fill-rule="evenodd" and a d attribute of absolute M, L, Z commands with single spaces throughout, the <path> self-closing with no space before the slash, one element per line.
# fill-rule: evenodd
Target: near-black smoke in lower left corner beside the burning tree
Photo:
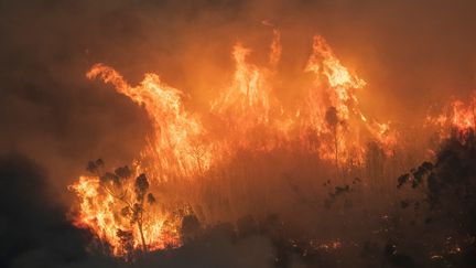
<path fill-rule="evenodd" d="M 45 179 L 24 157 L 0 158 L 1 267 L 58 267 L 85 256 L 86 233 L 64 219 Z"/>

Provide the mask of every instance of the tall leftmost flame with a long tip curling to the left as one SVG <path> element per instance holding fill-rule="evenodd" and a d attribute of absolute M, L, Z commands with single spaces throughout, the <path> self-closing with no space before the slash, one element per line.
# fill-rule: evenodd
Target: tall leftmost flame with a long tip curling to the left
<path fill-rule="evenodd" d="M 154 133 L 141 154 L 142 160 L 153 162 L 155 178 L 191 176 L 209 165 L 209 153 L 202 152 L 199 161 L 193 153 L 199 150 L 194 140 L 204 130 L 198 118 L 184 110 L 182 92 L 162 83 L 155 74 L 145 74 L 144 79 L 132 87 L 118 72 L 104 64 L 93 66 L 86 76 L 89 79 L 100 77 L 112 84 L 118 93 L 145 107 Z"/>

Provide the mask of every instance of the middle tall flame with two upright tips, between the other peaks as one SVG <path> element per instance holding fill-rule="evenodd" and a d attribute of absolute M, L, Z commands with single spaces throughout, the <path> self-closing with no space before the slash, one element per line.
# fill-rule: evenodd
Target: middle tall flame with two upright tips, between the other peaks
<path fill-rule="evenodd" d="M 282 139 L 278 129 L 278 111 L 281 106 L 273 95 L 271 81 L 280 60 L 280 33 L 274 30 L 270 46 L 269 66 L 257 66 L 248 62 L 251 50 L 237 43 L 232 49 L 236 69 L 229 87 L 212 103 L 210 112 L 224 122 L 227 140 L 215 142 L 214 156 L 228 156 L 234 150 L 255 148 L 269 151 L 277 139 Z M 261 137 L 250 137 L 250 132 L 261 128 Z M 219 138 L 218 138 L 219 139 Z"/>

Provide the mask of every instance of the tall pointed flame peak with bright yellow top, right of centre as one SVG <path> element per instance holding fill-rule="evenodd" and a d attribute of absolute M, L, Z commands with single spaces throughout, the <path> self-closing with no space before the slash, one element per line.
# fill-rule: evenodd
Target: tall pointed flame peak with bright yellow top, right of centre
<path fill-rule="evenodd" d="M 314 87 L 310 90 L 306 118 L 304 124 L 318 136 L 334 136 L 318 149 L 326 159 L 335 159 L 337 163 L 364 161 L 366 148 L 361 128 L 372 139 L 388 150 L 396 142 L 394 133 L 388 124 L 370 121 L 358 107 L 356 90 L 366 86 L 366 82 L 343 66 L 334 55 L 331 46 L 322 36 L 315 36 L 313 53 L 309 60 L 306 72 L 315 75 Z"/>

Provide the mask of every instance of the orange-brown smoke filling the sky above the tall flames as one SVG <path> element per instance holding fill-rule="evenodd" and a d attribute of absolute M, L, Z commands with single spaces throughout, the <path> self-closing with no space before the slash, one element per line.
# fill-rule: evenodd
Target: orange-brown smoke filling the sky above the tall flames
<path fill-rule="evenodd" d="M 302 71 L 311 36 L 325 36 L 364 77 L 367 114 L 419 118 L 429 99 L 475 86 L 472 1 L 2 1 L 1 151 L 20 151 L 47 167 L 60 187 L 88 159 L 129 162 L 143 144 L 144 112 L 84 78 L 97 62 L 132 84 L 154 72 L 207 107 L 231 75 L 240 40 L 266 61 L 271 31 L 282 31 L 284 101 L 299 90 L 285 81 Z M 219 73 L 220 75 L 216 75 Z M 412 116 L 409 116 L 412 115 Z M 58 192 L 62 192 L 58 190 Z"/>

